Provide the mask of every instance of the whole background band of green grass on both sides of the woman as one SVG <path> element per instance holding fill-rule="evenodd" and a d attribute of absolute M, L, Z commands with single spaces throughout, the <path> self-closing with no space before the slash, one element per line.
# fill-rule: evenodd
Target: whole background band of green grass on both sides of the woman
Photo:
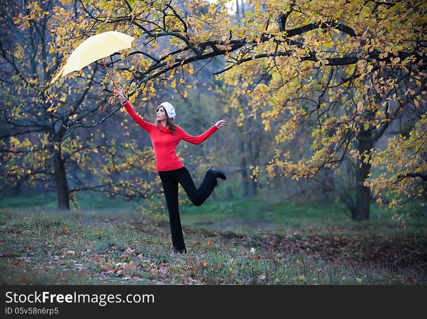
<path fill-rule="evenodd" d="M 392 219 L 394 212 L 380 209 L 376 203 L 370 205 L 370 218 L 365 222 L 354 222 L 345 205 L 340 202 L 325 202 L 313 198 L 299 198 L 280 202 L 262 192 L 255 197 L 224 200 L 223 189 L 218 187 L 217 201 L 208 199 L 202 206 L 191 203 L 180 205 L 181 221 L 184 225 L 221 229 L 225 231 L 283 231 L 290 229 L 313 229 L 325 227 L 374 227 L 378 225 L 401 225 L 402 222 L 418 224 L 427 222 L 427 216 L 419 216 L 415 207 L 407 207 L 397 213 L 403 218 Z M 181 193 L 183 191 L 181 190 Z M 181 194 L 182 195 L 182 194 Z M 185 195 L 182 196 L 185 198 Z M 272 199 L 271 199 L 272 198 Z M 271 199 L 270 201 L 267 199 Z M 164 199 L 161 198 L 163 201 Z M 84 192 L 77 196 L 78 207 L 72 205 L 67 214 L 99 215 L 112 212 L 114 216 L 128 210 L 147 211 L 148 201 L 127 201 L 123 198 L 110 199 L 105 194 Z M 44 211 L 56 210 L 55 193 L 46 196 L 6 198 L 0 201 L 0 208 L 31 207 Z M 410 216 L 406 216 L 410 213 Z M 167 213 L 166 213 L 167 214 Z M 163 214 L 166 217 L 166 214 Z M 128 215 L 128 213 L 124 213 Z M 384 228 L 384 227 L 383 227 Z"/>

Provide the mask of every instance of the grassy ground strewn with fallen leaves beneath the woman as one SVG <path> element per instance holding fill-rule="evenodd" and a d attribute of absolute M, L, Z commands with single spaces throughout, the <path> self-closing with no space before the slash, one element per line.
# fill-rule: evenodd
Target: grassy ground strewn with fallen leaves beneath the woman
<path fill-rule="evenodd" d="M 1 284 L 427 284 L 426 219 L 403 227 L 376 207 L 355 223 L 340 204 L 183 206 L 183 255 L 171 252 L 167 218 L 132 203 L 28 207 L 0 208 Z"/>

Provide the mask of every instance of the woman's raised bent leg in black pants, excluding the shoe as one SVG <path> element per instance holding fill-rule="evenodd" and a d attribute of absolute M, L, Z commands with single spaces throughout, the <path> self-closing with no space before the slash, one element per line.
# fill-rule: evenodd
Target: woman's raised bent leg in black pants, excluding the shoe
<path fill-rule="evenodd" d="M 178 170 L 178 181 L 182 188 L 184 188 L 190 198 L 190 201 L 192 201 L 196 206 L 203 204 L 218 184 L 215 175 L 210 172 L 206 172 L 203 182 L 197 189 L 189 171 L 185 167 Z"/>

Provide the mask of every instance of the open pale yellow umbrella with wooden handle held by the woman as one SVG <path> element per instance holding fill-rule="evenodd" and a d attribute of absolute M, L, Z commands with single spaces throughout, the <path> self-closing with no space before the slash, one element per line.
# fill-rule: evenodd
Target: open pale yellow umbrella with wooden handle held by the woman
<path fill-rule="evenodd" d="M 61 74 L 65 76 L 70 72 L 81 70 L 92 62 L 101 60 L 115 88 L 117 88 L 110 71 L 102 59 L 119 50 L 131 48 L 131 43 L 134 39 L 133 36 L 117 31 L 107 31 L 88 37 L 70 54 L 66 65 L 50 83 L 55 82 Z"/>

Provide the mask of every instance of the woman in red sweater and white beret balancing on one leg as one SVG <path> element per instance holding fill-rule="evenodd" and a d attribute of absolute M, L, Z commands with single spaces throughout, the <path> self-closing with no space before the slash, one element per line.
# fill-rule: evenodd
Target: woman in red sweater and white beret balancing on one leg
<path fill-rule="evenodd" d="M 181 139 L 193 144 L 202 143 L 220 127 L 223 127 L 226 120 L 219 120 L 201 135 L 191 136 L 182 130 L 181 127 L 175 125 L 174 118 L 176 113 L 172 104 L 168 102 L 160 104 L 156 110 L 157 121 L 155 124 L 151 124 L 136 114 L 129 101 L 124 97 L 122 90 L 115 89 L 114 93 L 115 96 L 118 96 L 131 118 L 150 135 L 156 159 L 156 170 L 159 172 L 162 181 L 164 197 L 166 198 L 167 209 L 169 211 L 173 250 L 179 253 L 187 252 L 182 235 L 180 212 L 178 208 L 178 183 L 184 188 L 193 204 L 199 206 L 206 201 L 213 192 L 213 189 L 217 185 L 216 179 L 219 177 L 226 180 L 227 178 L 223 172 L 213 170 L 212 167 L 209 167 L 206 170 L 206 176 L 203 182 L 197 189 L 187 168 L 185 168 L 175 153 L 175 149 Z"/>

